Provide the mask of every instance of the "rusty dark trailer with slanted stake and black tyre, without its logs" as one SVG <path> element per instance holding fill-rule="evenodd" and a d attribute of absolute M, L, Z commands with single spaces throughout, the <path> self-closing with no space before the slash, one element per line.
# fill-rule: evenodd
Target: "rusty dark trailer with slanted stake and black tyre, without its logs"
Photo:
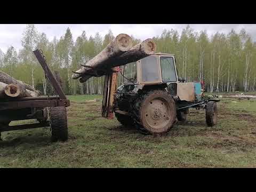
<path fill-rule="evenodd" d="M 70 101 L 61 86 L 47 66 L 43 52 L 33 51 L 42 66 L 45 78 L 51 83 L 57 95 L 45 97 L 10 98 L 0 101 L 0 138 L 1 132 L 34 129 L 38 127 L 51 128 L 51 140 L 66 141 L 68 139 L 67 111 Z M 36 119 L 38 123 L 10 126 L 10 122 L 25 119 Z"/>

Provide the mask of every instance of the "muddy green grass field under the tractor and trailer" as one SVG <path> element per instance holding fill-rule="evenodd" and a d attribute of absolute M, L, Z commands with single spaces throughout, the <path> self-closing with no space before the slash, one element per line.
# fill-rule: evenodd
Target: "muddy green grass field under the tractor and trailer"
<path fill-rule="evenodd" d="M 256 100 L 222 98 L 218 124 L 191 109 L 164 137 L 143 135 L 101 117 L 101 95 L 70 96 L 69 139 L 49 129 L 2 133 L 0 167 L 256 167 Z"/>

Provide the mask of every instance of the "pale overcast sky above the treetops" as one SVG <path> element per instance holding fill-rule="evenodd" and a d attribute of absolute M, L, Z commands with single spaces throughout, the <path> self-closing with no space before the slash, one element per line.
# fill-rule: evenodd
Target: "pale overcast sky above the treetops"
<path fill-rule="evenodd" d="M 111 29 L 114 36 L 120 33 L 126 33 L 133 35 L 135 38 L 146 39 L 161 35 L 164 29 L 175 29 L 181 33 L 182 29 L 185 28 L 187 24 L 36 24 L 35 26 L 39 33 L 44 32 L 50 41 L 54 36 L 60 38 L 69 27 L 75 41 L 77 36 L 82 34 L 83 30 L 85 30 L 88 37 L 90 37 L 90 35 L 94 36 L 97 32 L 103 37 L 108 30 Z M 247 33 L 252 35 L 253 40 L 256 41 L 255 24 L 191 24 L 190 27 L 198 32 L 207 30 L 209 35 L 217 31 L 227 34 L 232 28 L 239 32 L 242 28 L 245 28 Z M 11 45 L 14 46 L 17 51 L 21 49 L 21 36 L 25 28 L 26 24 L 1 24 L 0 49 L 6 52 Z"/>

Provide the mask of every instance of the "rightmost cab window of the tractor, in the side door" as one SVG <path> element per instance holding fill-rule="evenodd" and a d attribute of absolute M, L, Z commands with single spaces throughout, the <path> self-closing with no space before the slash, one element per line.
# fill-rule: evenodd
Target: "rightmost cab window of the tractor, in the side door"
<path fill-rule="evenodd" d="M 172 57 L 161 57 L 161 69 L 163 82 L 176 82 L 176 73 Z"/>

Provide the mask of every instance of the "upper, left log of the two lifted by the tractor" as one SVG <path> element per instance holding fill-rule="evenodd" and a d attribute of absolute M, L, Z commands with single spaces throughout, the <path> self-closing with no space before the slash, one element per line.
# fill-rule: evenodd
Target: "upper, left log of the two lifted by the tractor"
<path fill-rule="evenodd" d="M 93 59 L 86 63 L 86 66 L 94 67 L 94 68 L 103 68 L 111 63 L 111 60 L 118 55 L 130 50 L 132 47 L 132 38 L 126 34 L 119 34 L 116 38 L 113 39 L 112 42 L 108 44 L 108 46 L 103 49 L 98 55 L 96 55 Z M 76 73 L 73 74 L 72 78 L 77 79 L 82 77 L 83 73 L 86 73 L 86 70 L 91 68 L 82 67 L 77 70 Z"/>

